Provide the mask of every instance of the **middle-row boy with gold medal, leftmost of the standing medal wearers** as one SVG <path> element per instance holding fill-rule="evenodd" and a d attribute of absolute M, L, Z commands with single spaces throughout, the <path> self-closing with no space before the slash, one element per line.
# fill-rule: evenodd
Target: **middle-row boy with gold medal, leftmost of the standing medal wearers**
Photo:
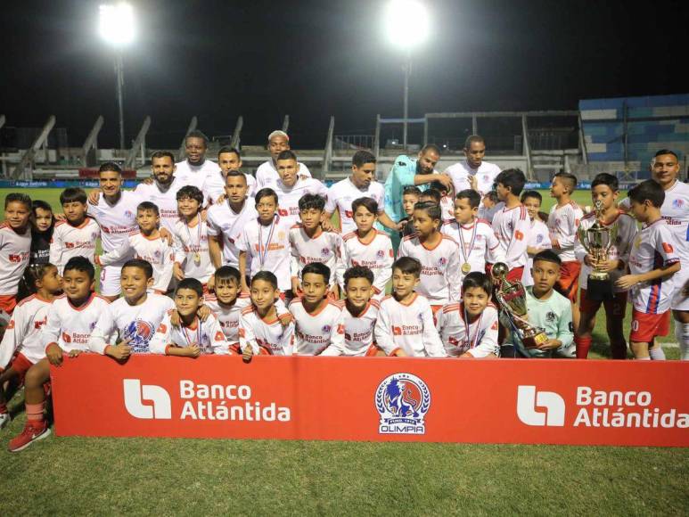
<path fill-rule="evenodd" d="M 210 260 L 208 224 L 201 217 L 203 199 L 195 186 L 186 185 L 177 191 L 179 220 L 173 230 L 173 275 L 177 281 L 195 278 L 205 286 L 215 269 Z"/>

